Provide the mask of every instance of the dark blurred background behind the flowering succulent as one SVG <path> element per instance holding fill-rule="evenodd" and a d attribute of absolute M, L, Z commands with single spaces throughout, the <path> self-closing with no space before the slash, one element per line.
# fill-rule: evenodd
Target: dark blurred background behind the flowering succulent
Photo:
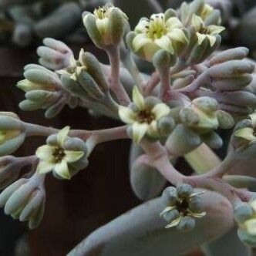
<path fill-rule="evenodd" d="M 22 69 L 36 63 L 36 47 L 45 37 L 66 42 L 76 53 L 83 47 L 93 52 L 100 61 L 107 62 L 104 52 L 95 49 L 83 28 L 81 14 L 104 5 L 104 0 L 0 0 L 0 110 L 17 113 L 22 120 L 47 126 L 63 127 L 72 124 L 76 129 L 103 129 L 118 123 L 107 118 L 90 116 L 85 109 L 75 111 L 66 107 L 54 120 L 45 120 L 43 113 L 22 112 L 18 104 L 23 93 L 15 87 L 22 79 Z M 180 0 L 114 0 L 115 5 L 129 16 L 131 26 L 141 16 L 177 8 Z M 188 1 L 189 2 L 189 1 Z M 227 27 L 224 47 L 247 46 L 251 58 L 256 58 L 256 1 L 207 0 L 219 8 Z M 143 6 L 143 8 L 141 8 Z M 35 152 L 43 140 L 28 140 L 17 152 L 19 156 Z M 114 217 L 140 204 L 130 188 L 128 153 L 130 143 L 118 141 L 96 148 L 89 160 L 89 167 L 71 181 L 48 177 L 45 217 L 35 231 L 28 231 L 25 224 L 12 221 L 0 210 L 0 256 L 62 256 L 86 235 L 106 224 Z M 111 160 L 109 160 L 111 152 Z M 224 150 L 218 152 L 224 154 Z M 190 173 L 184 161 L 177 163 Z M 203 255 L 194 251 L 190 255 Z M 227 255 L 229 256 L 229 255 Z M 242 255 L 241 255 L 242 256 Z"/>

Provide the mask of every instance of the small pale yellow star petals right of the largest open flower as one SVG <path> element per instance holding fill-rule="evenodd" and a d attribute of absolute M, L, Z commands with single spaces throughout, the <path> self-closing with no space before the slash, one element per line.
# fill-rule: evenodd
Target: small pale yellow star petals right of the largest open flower
<path fill-rule="evenodd" d="M 200 16 L 192 16 L 192 25 L 196 29 L 197 43 L 201 45 L 205 39 L 210 42 L 211 47 L 216 42 L 216 35 L 224 31 L 224 27 L 221 25 L 205 25 L 204 21 Z"/>

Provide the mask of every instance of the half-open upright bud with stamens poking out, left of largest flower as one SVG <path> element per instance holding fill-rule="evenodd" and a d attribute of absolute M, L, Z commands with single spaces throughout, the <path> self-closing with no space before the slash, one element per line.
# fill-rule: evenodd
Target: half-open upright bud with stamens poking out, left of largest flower
<path fill-rule="evenodd" d="M 119 45 L 128 25 L 127 16 L 120 8 L 105 5 L 96 8 L 93 14 L 83 13 L 83 24 L 94 44 L 105 49 L 110 45 Z"/>

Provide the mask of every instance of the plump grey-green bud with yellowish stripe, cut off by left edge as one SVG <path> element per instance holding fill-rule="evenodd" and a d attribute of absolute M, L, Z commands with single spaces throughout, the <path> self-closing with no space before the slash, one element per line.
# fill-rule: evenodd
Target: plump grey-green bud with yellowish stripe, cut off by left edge
<path fill-rule="evenodd" d="M 19 116 L 11 112 L 0 112 L 0 156 L 13 153 L 24 140 L 24 127 Z"/>

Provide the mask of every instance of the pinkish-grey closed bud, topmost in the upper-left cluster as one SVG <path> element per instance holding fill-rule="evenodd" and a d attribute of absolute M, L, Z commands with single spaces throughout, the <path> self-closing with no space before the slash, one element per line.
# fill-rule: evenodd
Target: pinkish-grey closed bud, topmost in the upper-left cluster
<path fill-rule="evenodd" d="M 45 46 L 39 46 L 37 49 L 37 54 L 40 57 L 39 63 L 42 66 L 59 70 L 75 64 L 73 52 L 64 42 L 46 38 L 43 43 Z"/>

